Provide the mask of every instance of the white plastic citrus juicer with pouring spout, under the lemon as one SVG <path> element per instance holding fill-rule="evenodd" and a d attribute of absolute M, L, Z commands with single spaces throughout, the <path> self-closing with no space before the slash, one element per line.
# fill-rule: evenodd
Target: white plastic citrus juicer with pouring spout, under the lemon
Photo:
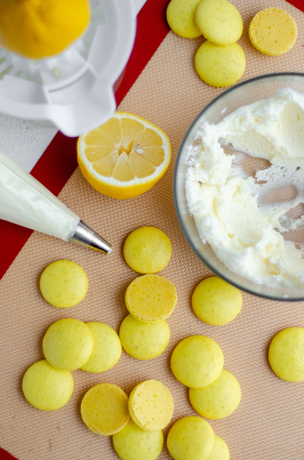
<path fill-rule="evenodd" d="M 54 57 L 29 60 L 1 48 L 0 111 L 51 121 L 73 137 L 105 123 L 116 109 L 113 85 L 132 51 L 132 0 L 91 0 L 84 35 Z"/>

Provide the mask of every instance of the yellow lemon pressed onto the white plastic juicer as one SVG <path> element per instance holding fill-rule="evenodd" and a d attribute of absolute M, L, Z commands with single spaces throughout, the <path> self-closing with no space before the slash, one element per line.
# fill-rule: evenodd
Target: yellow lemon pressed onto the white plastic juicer
<path fill-rule="evenodd" d="M 24 57 L 62 52 L 89 23 L 89 0 L 0 0 L 0 46 Z"/>

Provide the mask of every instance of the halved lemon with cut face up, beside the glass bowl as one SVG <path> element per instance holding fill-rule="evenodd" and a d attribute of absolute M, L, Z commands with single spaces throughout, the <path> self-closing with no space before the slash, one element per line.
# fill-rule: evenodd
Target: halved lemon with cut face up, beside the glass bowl
<path fill-rule="evenodd" d="M 143 118 L 115 112 L 104 125 L 79 137 L 78 163 L 94 189 L 112 198 L 150 190 L 171 159 L 168 136 Z"/>

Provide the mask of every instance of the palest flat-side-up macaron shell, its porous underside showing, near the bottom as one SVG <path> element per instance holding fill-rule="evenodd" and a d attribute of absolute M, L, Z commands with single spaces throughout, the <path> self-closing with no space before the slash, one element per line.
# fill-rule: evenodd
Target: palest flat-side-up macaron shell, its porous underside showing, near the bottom
<path fill-rule="evenodd" d="M 144 430 L 163 430 L 173 415 L 173 398 L 159 380 L 146 380 L 136 385 L 129 397 L 129 413 Z"/>

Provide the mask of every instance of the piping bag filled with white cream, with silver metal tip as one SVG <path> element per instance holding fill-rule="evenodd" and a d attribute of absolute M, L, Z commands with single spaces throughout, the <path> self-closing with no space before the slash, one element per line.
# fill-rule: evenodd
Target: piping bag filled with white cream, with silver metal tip
<path fill-rule="evenodd" d="M 0 219 L 104 254 L 112 252 L 95 230 L 1 150 Z"/>

